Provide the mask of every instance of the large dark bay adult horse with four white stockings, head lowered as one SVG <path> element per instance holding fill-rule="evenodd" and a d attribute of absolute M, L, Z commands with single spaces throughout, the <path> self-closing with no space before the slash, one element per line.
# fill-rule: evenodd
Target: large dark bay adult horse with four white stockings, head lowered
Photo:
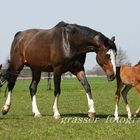
<path fill-rule="evenodd" d="M 29 89 L 34 116 L 41 116 L 36 103 L 36 91 L 41 71 L 54 74 L 53 116 L 56 119 L 60 118 L 58 99 L 61 75 L 70 71 L 84 87 L 89 107 L 88 116 L 94 118 L 94 101 L 84 70 L 86 53 L 96 53 L 98 64 L 105 71 L 108 80 L 112 81 L 116 75 L 117 48 L 114 41 L 114 37 L 109 39 L 91 28 L 63 21 L 48 30 L 28 29 L 16 33 L 11 46 L 9 66 L 0 76 L 0 86 L 4 81 L 8 81 L 8 95 L 1 110 L 2 114 L 6 114 L 10 109 L 12 90 L 17 76 L 26 65 L 32 71 Z"/>

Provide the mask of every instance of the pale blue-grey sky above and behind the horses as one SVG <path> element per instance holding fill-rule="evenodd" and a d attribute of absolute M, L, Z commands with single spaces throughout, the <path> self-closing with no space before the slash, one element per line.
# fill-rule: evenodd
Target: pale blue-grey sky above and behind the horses
<path fill-rule="evenodd" d="M 0 63 L 9 56 L 16 32 L 49 29 L 60 21 L 88 26 L 108 38 L 115 36 L 117 48 L 126 51 L 132 64 L 140 60 L 139 0 L 3 0 L 0 17 Z M 96 54 L 89 53 L 85 69 L 96 64 Z"/>

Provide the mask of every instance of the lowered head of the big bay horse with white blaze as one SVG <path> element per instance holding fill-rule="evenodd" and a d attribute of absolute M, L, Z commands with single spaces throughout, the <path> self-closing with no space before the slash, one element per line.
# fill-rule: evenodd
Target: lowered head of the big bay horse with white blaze
<path fill-rule="evenodd" d="M 116 75 L 115 60 L 117 49 L 114 41 L 115 37 L 112 37 L 111 39 L 106 38 L 102 43 L 100 43 L 96 56 L 98 64 L 106 73 L 109 81 L 114 80 Z"/>

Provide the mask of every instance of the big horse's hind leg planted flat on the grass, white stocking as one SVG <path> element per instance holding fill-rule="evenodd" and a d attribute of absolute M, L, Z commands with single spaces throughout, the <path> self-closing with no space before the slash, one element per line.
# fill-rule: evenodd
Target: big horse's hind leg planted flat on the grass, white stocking
<path fill-rule="evenodd" d="M 30 84 L 30 95 L 32 100 L 32 112 L 34 113 L 35 117 L 41 117 L 41 113 L 38 110 L 37 103 L 36 103 L 36 91 L 37 85 L 40 81 L 41 72 L 40 71 L 33 71 L 32 70 L 32 82 Z"/>

